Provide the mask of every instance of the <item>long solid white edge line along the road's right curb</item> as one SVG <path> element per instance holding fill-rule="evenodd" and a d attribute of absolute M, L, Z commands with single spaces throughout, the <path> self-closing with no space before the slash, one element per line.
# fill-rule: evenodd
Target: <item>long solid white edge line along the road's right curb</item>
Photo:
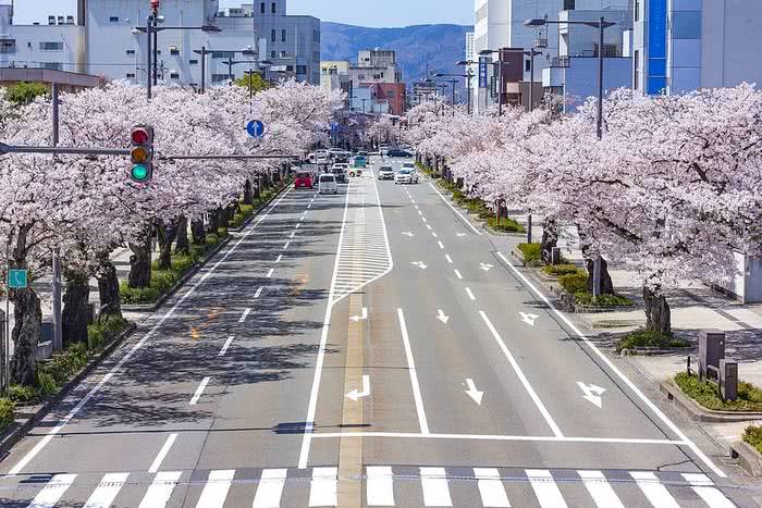
<path fill-rule="evenodd" d="M 576 333 L 577 336 L 578 336 L 579 338 L 581 338 L 582 342 L 595 354 L 595 356 L 597 356 L 598 358 L 600 358 L 601 361 L 603 361 L 603 362 L 606 364 L 606 367 L 609 367 L 609 369 L 610 369 L 614 374 L 616 374 L 616 376 L 619 377 L 619 379 L 627 385 L 627 387 L 629 387 L 629 389 L 630 389 L 632 393 L 635 393 L 635 394 L 638 396 L 638 398 L 639 398 L 646 406 L 648 406 L 648 408 L 649 408 L 651 411 L 653 411 L 653 413 L 656 414 L 656 417 L 657 417 L 665 425 L 667 425 L 667 426 L 669 428 L 669 430 L 672 430 L 673 433 L 675 433 L 675 435 L 678 437 L 678 441 L 683 442 L 686 446 L 688 446 L 688 447 L 693 451 L 693 454 L 696 454 L 696 456 L 697 456 L 703 463 L 705 463 L 706 467 L 709 467 L 709 468 L 714 472 L 714 474 L 716 474 L 716 475 L 720 476 L 720 478 L 727 478 L 727 474 L 725 474 L 725 472 L 724 472 L 722 469 L 720 469 L 717 466 L 715 466 L 715 463 L 706 456 L 706 454 L 704 454 L 704 453 L 701 450 L 701 448 L 699 448 L 699 447 L 696 445 L 696 443 L 693 443 L 692 441 L 690 441 L 690 439 L 688 438 L 688 436 L 685 435 L 685 433 L 684 433 L 683 431 L 680 431 L 680 429 L 679 429 L 675 423 L 673 423 L 673 421 L 669 420 L 669 419 L 667 418 L 667 416 L 664 414 L 664 412 L 663 412 L 661 409 L 659 409 L 659 408 L 656 407 L 656 405 L 653 404 L 653 402 L 651 401 L 651 399 L 649 399 L 649 398 L 646 396 L 646 394 L 643 394 L 643 393 L 640 391 L 640 388 L 638 388 L 638 387 L 635 385 L 635 383 L 632 383 L 632 382 L 629 380 L 629 377 L 627 377 L 627 376 L 626 376 L 626 375 L 625 375 L 625 374 L 624 374 L 624 373 L 623 373 L 623 372 L 622 372 L 622 371 L 620 371 L 620 370 L 619 370 L 619 369 L 618 369 L 618 368 L 617 368 L 617 367 L 616 367 L 616 365 L 615 365 L 615 364 L 614 364 L 614 363 L 598 348 L 598 346 L 595 346 L 593 343 L 591 343 L 590 339 L 589 339 L 582 332 L 580 332 L 579 329 L 578 329 L 577 326 L 575 326 L 575 324 L 574 324 L 568 318 L 566 318 L 566 315 L 564 315 L 563 312 L 561 312 L 558 309 L 556 309 L 555 306 L 548 299 L 548 297 L 546 297 L 545 295 L 543 295 L 543 294 L 534 286 L 534 284 L 532 284 L 526 276 L 524 276 L 524 274 L 523 274 L 521 272 L 519 272 L 518 269 L 516 269 L 516 267 L 514 267 L 514 265 L 511 263 L 511 261 L 508 261 L 508 259 L 505 257 L 505 255 L 503 255 L 503 252 L 497 252 L 497 256 L 500 256 L 500 258 L 503 260 L 503 262 L 505 262 L 505 264 L 506 264 L 508 268 L 511 268 L 511 270 L 513 270 L 513 272 L 524 282 L 524 284 L 527 285 L 527 287 L 529 287 L 542 301 L 544 301 L 545 305 L 546 305 L 550 309 L 553 310 L 553 313 L 555 313 L 564 323 L 566 323 L 566 325 L 569 327 L 569 330 L 572 330 L 574 333 Z"/>

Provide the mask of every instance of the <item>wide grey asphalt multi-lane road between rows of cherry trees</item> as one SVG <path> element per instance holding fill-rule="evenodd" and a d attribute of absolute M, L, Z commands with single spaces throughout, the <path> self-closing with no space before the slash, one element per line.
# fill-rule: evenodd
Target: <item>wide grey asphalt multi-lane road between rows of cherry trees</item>
<path fill-rule="evenodd" d="M 0 505 L 755 506 L 428 181 L 342 190 L 236 236 L 11 450 Z"/>

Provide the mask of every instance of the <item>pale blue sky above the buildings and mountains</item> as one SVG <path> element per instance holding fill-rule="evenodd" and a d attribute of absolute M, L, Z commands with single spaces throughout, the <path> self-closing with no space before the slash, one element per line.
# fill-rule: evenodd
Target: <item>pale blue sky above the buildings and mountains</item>
<path fill-rule="evenodd" d="M 241 3 L 242 0 L 220 1 L 222 7 Z M 76 14 L 76 0 L 16 0 L 15 5 L 14 22 L 19 25 L 47 22 L 48 14 Z M 287 9 L 290 14 L 311 14 L 323 21 L 361 26 L 474 23 L 472 0 L 288 0 Z"/>

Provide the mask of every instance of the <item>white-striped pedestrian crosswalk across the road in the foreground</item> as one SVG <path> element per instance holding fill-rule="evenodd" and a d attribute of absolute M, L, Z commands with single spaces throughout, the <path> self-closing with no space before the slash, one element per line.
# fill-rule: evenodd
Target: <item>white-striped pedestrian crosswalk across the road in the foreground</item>
<path fill-rule="evenodd" d="M 340 481 L 361 481 L 368 507 L 711 507 L 735 506 L 702 473 L 506 468 L 368 466 L 339 479 L 335 467 L 311 470 L 212 470 L 60 473 L 9 483 L 0 506 L 253 508 L 325 507 L 339 503 Z"/>

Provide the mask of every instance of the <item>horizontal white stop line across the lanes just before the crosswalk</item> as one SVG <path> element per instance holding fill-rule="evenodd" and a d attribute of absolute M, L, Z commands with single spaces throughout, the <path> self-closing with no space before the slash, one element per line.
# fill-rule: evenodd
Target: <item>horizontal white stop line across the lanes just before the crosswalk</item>
<path fill-rule="evenodd" d="M 343 437 L 390 437 L 409 439 L 451 439 L 451 441 L 506 441 L 527 443 L 593 443 L 623 445 L 685 445 L 683 441 L 642 439 L 638 437 L 566 437 L 566 436 L 509 436 L 494 434 L 420 434 L 416 432 L 321 432 L 315 438 L 336 439 Z"/>

